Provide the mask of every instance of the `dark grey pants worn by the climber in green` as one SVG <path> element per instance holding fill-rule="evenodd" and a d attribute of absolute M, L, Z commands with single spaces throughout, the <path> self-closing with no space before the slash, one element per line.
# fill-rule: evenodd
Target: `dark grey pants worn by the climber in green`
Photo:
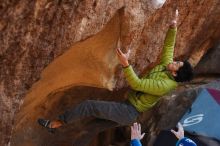
<path fill-rule="evenodd" d="M 136 121 L 139 112 L 129 102 L 86 100 L 59 116 L 65 123 L 93 116 L 110 120 L 119 125 L 130 125 Z"/>

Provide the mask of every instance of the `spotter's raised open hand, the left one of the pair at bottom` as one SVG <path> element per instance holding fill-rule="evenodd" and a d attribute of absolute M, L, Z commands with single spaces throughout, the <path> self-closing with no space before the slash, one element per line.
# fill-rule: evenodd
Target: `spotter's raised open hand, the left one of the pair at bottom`
<path fill-rule="evenodd" d="M 131 126 L 131 140 L 141 140 L 144 137 L 144 135 L 145 133 L 141 134 L 141 124 L 134 123 L 133 126 Z"/>

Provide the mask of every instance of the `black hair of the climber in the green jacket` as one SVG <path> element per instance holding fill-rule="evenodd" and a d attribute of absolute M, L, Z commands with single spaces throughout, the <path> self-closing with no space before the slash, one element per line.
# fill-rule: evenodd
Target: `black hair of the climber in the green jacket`
<path fill-rule="evenodd" d="M 183 62 L 183 66 L 179 68 L 174 77 L 177 82 L 190 81 L 193 78 L 193 68 L 188 61 Z"/>

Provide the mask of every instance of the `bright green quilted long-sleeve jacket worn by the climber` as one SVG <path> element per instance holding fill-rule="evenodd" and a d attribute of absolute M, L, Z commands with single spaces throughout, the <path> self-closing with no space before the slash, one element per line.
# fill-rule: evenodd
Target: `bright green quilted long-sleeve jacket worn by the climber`
<path fill-rule="evenodd" d="M 131 66 L 124 68 L 126 80 L 133 89 L 133 91 L 129 93 L 128 100 L 139 112 L 151 108 L 162 95 L 177 87 L 177 82 L 171 74 L 166 71 L 166 66 L 173 62 L 176 31 L 176 28 L 170 28 L 168 30 L 160 64 L 155 66 L 143 78 L 140 79 Z"/>

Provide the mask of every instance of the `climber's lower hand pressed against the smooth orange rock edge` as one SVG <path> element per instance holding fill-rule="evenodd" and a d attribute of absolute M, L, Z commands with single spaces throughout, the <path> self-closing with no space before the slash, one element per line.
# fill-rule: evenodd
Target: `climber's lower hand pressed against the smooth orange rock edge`
<path fill-rule="evenodd" d="M 118 59 L 120 61 L 120 64 L 123 66 L 123 67 L 127 67 L 129 66 L 129 63 L 128 63 L 128 58 L 129 58 L 129 55 L 130 55 L 130 50 L 124 54 L 121 49 L 120 49 L 120 45 L 118 43 L 117 45 L 117 48 L 116 48 L 116 54 L 118 56 Z"/>

